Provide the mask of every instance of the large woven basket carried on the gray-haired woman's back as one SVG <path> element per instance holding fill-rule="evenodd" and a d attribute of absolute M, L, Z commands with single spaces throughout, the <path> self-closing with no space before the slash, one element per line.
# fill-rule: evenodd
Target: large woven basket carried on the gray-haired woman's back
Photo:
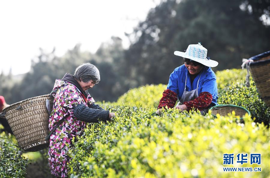
<path fill-rule="evenodd" d="M 49 145 L 45 139 L 49 135 L 46 99 L 52 108 L 53 97 L 48 94 L 14 103 L 3 110 L 22 150 L 38 151 Z"/>

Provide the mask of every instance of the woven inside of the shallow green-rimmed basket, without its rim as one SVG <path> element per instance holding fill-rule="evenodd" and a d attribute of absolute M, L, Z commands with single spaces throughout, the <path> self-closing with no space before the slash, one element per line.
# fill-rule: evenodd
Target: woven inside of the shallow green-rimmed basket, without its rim
<path fill-rule="evenodd" d="M 228 113 L 232 113 L 232 111 L 235 111 L 235 116 L 240 116 L 240 117 L 244 117 L 244 115 L 247 113 L 247 111 L 238 107 L 220 106 L 217 108 L 212 108 L 211 114 L 214 114 L 214 115 L 220 114 L 220 116 L 228 116 Z"/>

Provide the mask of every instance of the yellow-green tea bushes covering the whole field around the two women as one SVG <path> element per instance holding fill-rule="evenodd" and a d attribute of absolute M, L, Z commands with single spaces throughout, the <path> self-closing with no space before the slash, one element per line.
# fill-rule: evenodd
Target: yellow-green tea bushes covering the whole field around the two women
<path fill-rule="evenodd" d="M 252 80 L 250 88 L 244 86 L 245 75 L 238 69 L 216 72 L 219 104 L 247 108 L 251 116 L 245 124 L 236 123 L 233 115 L 215 119 L 195 111 L 167 110 L 158 116 L 156 107 L 166 89 L 162 84 L 131 89 L 117 102 L 101 103 L 117 116 L 106 124 L 89 124 L 84 136 L 73 140 L 71 177 L 269 177 L 270 111 Z M 13 159 L 1 157 L 0 177 L 25 177 L 27 162 L 16 144 L 14 137 L 1 134 L 0 156 L 10 153 Z M 234 153 L 235 162 L 238 153 L 261 153 L 262 164 L 223 165 L 225 153 Z M 13 161 L 17 166 L 5 169 Z M 262 171 L 224 172 L 223 167 Z"/>

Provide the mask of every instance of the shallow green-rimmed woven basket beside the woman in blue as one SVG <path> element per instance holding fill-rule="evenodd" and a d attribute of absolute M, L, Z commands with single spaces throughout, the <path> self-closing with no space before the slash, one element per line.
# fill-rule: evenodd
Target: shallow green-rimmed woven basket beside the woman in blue
<path fill-rule="evenodd" d="M 235 111 L 235 116 L 240 116 L 240 119 L 243 119 L 246 113 L 250 115 L 247 109 L 237 105 L 215 105 L 209 108 L 209 110 L 211 110 L 211 114 L 214 116 L 217 114 L 220 114 L 220 116 L 228 116 L 232 111 Z"/>

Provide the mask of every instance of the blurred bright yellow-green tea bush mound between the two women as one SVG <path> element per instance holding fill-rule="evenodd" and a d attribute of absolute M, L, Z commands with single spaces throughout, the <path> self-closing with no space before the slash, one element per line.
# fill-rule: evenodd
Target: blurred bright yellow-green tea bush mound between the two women
<path fill-rule="evenodd" d="M 131 105 L 143 108 L 158 107 L 162 93 L 166 90 L 166 85 L 146 85 L 128 90 L 120 96 L 117 105 Z"/>

